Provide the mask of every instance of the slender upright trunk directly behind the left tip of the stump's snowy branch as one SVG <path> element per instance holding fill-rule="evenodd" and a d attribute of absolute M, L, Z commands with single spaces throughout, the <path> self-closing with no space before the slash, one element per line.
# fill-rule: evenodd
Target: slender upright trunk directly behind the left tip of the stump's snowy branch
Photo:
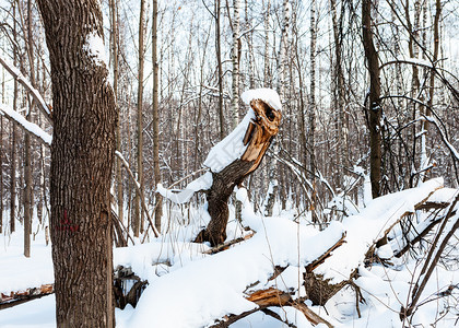
<path fill-rule="evenodd" d="M 160 63 L 157 60 L 157 0 L 153 0 L 153 46 L 152 46 L 152 62 L 153 62 L 153 169 L 154 169 L 154 185 L 161 183 L 160 169 L 160 99 L 158 99 L 158 69 Z M 156 192 L 156 210 L 154 212 L 154 225 L 161 232 L 161 216 L 163 215 L 163 198 Z"/>

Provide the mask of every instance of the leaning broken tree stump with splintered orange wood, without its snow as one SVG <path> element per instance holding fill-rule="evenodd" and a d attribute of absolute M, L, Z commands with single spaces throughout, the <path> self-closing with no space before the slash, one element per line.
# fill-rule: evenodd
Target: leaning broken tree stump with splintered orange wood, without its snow
<path fill-rule="evenodd" d="M 208 212 L 211 221 L 207 229 L 196 237 L 197 243 L 209 242 L 212 246 L 222 244 L 226 239 L 226 224 L 228 221 L 227 201 L 235 186 L 255 169 L 279 131 L 282 114 L 260 99 L 250 102 L 256 119 L 250 122 L 244 137 L 246 151 L 240 159 L 235 160 L 219 173 L 212 173 L 212 187 L 207 191 Z"/>

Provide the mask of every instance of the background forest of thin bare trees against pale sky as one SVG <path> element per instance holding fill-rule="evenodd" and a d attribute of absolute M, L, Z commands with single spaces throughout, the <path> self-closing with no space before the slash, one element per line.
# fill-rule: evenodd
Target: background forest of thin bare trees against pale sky
<path fill-rule="evenodd" d="M 332 202 L 337 196 L 367 200 L 365 186 L 373 197 L 429 176 L 457 186 L 457 163 L 445 143 L 458 148 L 457 2 L 102 4 L 120 114 L 117 149 L 150 210 L 158 181 L 168 186 L 201 168 L 210 148 L 245 114 L 239 93 L 254 87 L 276 90 L 284 107 L 269 161 L 247 181 L 259 210 L 272 213 L 271 195 L 280 208 L 295 204 L 298 215 L 325 222 L 352 208 Z M 2 58 L 50 102 L 35 1 L 2 1 L 0 15 Z M 24 87 L 0 72 L 2 103 L 50 131 Z M 33 211 L 42 224 L 35 229 L 48 224 L 49 150 L 3 116 L 0 124 L 0 230 L 13 232 L 19 220 L 33 236 Z M 148 222 L 120 163 L 113 190 L 118 213 L 139 236 Z"/>

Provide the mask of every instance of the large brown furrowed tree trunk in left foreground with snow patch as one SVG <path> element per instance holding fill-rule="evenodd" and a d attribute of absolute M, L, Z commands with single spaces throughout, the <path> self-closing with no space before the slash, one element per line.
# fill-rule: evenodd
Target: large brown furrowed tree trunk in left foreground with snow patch
<path fill-rule="evenodd" d="M 115 327 L 109 187 L 117 112 L 96 0 L 39 0 L 52 80 L 50 204 L 58 327 Z"/>

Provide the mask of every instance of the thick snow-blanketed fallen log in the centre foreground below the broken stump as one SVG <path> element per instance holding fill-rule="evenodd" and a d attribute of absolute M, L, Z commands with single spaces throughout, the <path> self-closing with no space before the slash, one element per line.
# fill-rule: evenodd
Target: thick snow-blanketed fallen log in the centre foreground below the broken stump
<path fill-rule="evenodd" d="M 256 219 L 252 218 L 255 221 Z M 322 232 L 284 218 L 266 218 L 263 229 L 225 251 L 195 259 L 170 273 L 152 277 L 131 317 L 131 327 L 203 327 L 227 315 L 259 308 L 248 300 L 256 290 L 276 289 L 292 300 L 305 296 L 297 279 L 343 235 L 333 222 Z M 276 267 L 286 269 L 270 280 Z M 251 286 L 251 288 L 250 288 Z M 178 296 L 179 295 L 179 296 Z M 169 315 L 169 306 L 178 308 Z"/>

